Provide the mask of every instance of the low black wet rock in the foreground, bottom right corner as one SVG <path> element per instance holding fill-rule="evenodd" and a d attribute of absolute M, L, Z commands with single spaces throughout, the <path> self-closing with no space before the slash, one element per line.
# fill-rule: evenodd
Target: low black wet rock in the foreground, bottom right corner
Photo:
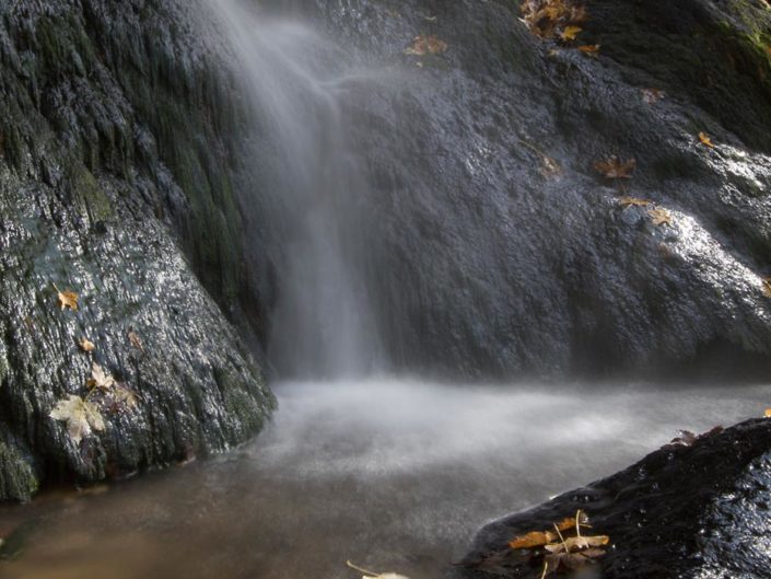
<path fill-rule="evenodd" d="M 665 447 L 609 478 L 484 528 L 465 566 L 446 577 L 540 577 L 541 569 L 507 542 L 577 509 L 589 514 L 593 532 L 611 539 L 597 565 L 601 577 L 768 577 L 769 448 L 768 419 L 703 436 L 692 447 Z M 484 559 L 492 563 L 482 570 Z"/>

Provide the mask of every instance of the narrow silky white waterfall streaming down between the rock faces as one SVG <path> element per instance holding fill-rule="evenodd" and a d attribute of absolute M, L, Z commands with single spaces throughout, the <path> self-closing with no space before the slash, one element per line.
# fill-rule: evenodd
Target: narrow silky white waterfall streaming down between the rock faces
<path fill-rule="evenodd" d="M 212 0 L 256 118 L 257 208 L 274 276 L 268 354 L 282 375 L 362 374 L 376 358 L 358 228 L 365 180 L 337 91 L 344 59 L 308 27 Z"/>

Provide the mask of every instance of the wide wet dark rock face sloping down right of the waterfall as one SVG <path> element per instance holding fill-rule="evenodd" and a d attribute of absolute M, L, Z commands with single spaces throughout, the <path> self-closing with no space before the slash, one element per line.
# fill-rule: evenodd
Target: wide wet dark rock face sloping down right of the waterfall
<path fill-rule="evenodd" d="M 597 59 L 530 35 L 510 0 L 299 3 L 384 71 L 346 99 L 374 184 L 359 267 L 393 366 L 768 371 L 764 2 L 592 0 L 575 44 Z M 404 55 L 420 33 L 448 50 Z M 638 162 L 622 186 L 593 169 L 614 154 Z"/>

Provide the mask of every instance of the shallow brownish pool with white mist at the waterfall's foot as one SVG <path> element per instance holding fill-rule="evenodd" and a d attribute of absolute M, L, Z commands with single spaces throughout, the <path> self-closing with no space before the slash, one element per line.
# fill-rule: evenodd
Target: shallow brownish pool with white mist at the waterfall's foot
<path fill-rule="evenodd" d="M 588 389 L 586 389 L 588 390 Z M 10 579 L 357 578 L 346 559 L 441 576 L 480 525 L 666 443 L 758 416 L 768 386 L 281 384 L 254 443 L 83 495 L 0 511 Z"/>

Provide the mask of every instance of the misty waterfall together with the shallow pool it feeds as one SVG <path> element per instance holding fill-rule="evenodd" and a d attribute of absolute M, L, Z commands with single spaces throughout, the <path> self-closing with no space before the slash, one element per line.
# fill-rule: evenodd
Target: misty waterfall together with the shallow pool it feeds
<path fill-rule="evenodd" d="M 293 19 L 211 8 L 259 135 L 261 187 L 242 201 L 262 216 L 255 243 L 276 276 L 267 354 L 303 381 L 271 384 L 272 422 L 226 455 L 4 508 L 14 557 L 0 576 L 343 579 L 350 559 L 434 579 L 486 522 L 610 475 L 678 429 L 762 414 L 763 386 L 348 378 L 376 373 L 382 354 L 358 254 L 366 176 L 338 94 L 385 72 L 347 68 Z"/>

